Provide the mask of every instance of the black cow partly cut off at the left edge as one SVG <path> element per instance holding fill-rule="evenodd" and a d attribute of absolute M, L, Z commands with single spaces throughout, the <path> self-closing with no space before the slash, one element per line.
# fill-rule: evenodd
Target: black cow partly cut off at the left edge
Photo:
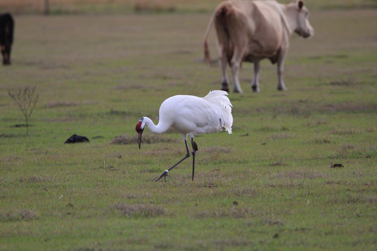
<path fill-rule="evenodd" d="M 3 64 L 11 64 L 14 21 L 10 13 L 0 14 L 0 49 Z"/>

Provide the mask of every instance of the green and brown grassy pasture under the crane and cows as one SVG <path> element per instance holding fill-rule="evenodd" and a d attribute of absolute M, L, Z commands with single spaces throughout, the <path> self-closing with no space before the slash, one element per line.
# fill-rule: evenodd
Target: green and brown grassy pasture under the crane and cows
<path fill-rule="evenodd" d="M 184 156 L 181 136 L 146 129 L 139 150 L 135 125 L 157 123 L 167 97 L 221 88 L 203 62 L 210 14 L 15 15 L 0 65 L 0 250 L 375 250 L 375 14 L 314 8 L 315 36 L 291 38 L 288 91 L 263 61 L 252 93 L 243 64 L 233 134 L 198 135 L 195 181 L 190 158 L 166 183 L 154 180 Z M 28 85 L 29 134 L 8 96 Z M 64 144 L 72 134 L 90 143 Z"/>

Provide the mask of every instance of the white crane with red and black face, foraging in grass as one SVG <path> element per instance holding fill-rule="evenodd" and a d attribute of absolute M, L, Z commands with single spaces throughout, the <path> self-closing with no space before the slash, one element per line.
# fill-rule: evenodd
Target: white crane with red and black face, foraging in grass
<path fill-rule="evenodd" d="M 169 97 L 162 102 L 159 110 L 158 125 L 155 125 L 148 117 L 141 117 L 136 124 L 136 132 L 139 134 L 139 149 L 141 145 L 141 135 L 144 127 L 156 134 L 166 132 L 172 128 L 182 135 L 185 141 L 187 154 L 172 167 L 165 170 L 156 180 L 165 178 L 167 173 L 190 157 L 189 146 L 187 145 L 187 134 L 191 138 L 192 145 L 192 180 L 194 180 L 195 152 L 198 146 L 194 141 L 194 135 L 207 132 L 219 132 L 223 129 L 232 133 L 233 116 L 230 100 L 226 91 L 210 91 L 205 97 L 190 95 L 176 95 Z"/>

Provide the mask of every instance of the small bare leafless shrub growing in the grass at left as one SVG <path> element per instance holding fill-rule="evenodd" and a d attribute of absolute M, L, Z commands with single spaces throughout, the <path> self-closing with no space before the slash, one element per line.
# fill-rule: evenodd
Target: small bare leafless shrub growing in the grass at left
<path fill-rule="evenodd" d="M 26 132 L 29 134 L 29 118 L 37 104 L 39 95 L 35 93 L 37 87 L 24 87 L 18 90 L 8 90 L 9 96 L 14 100 L 25 117 Z"/>

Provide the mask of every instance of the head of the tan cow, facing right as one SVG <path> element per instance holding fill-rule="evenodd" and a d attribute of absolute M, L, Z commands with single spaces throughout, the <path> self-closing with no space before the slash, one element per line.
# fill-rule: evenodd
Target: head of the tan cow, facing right
<path fill-rule="evenodd" d="M 302 0 L 297 0 L 289 6 L 289 19 L 293 30 L 301 37 L 308 38 L 314 35 L 314 29 L 309 23 L 309 11 Z"/>

